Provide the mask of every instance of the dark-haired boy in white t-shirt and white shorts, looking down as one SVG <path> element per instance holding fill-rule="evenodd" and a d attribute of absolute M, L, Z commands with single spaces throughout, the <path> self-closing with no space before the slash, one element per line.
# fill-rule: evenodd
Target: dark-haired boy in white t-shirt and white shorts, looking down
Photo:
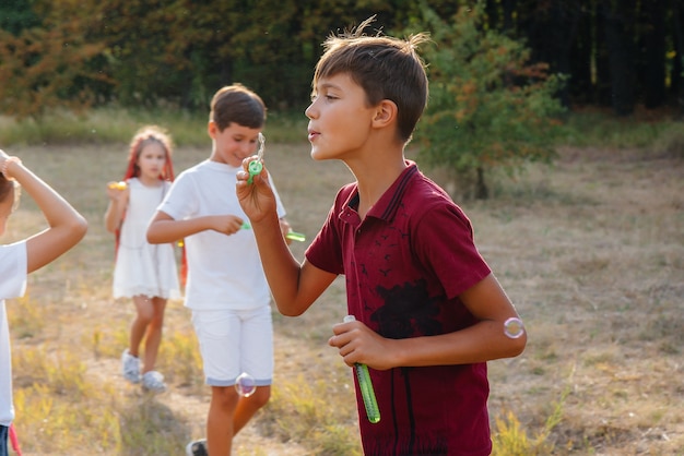
<path fill-rule="evenodd" d="M 210 158 L 178 176 L 148 229 L 150 242 L 186 242 L 185 303 L 211 386 L 207 440 L 190 442 L 190 456 L 229 455 L 233 436 L 271 394 L 271 293 L 235 193 L 236 173 L 255 154 L 264 122 L 266 106 L 257 94 L 239 84 L 219 89 L 209 116 Z M 290 226 L 276 193 L 273 204 L 283 238 Z M 243 372 L 256 380 L 249 397 L 234 387 Z"/>

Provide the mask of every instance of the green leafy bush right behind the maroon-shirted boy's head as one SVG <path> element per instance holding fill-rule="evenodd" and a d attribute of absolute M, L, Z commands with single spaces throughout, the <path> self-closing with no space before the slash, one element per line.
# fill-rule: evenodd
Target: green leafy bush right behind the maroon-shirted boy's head
<path fill-rule="evenodd" d="M 487 171 L 514 172 L 554 157 L 563 76 L 529 63 L 521 41 L 488 29 L 480 4 L 459 9 L 449 22 L 425 4 L 422 14 L 406 32 L 429 31 L 435 41 L 423 52 L 431 96 L 415 134 L 420 157 L 468 182 L 465 194 L 486 199 Z"/>

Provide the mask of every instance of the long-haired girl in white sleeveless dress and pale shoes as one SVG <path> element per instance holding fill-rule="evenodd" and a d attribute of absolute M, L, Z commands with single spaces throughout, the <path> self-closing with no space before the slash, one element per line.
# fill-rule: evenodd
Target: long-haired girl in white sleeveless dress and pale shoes
<path fill-rule="evenodd" d="M 164 376 L 154 370 L 164 311 L 168 299 L 180 298 L 180 287 L 174 244 L 150 244 L 145 233 L 173 179 L 170 136 L 148 125 L 131 140 L 123 180 L 107 184 L 105 224 L 116 235 L 114 298 L 131 298 L 137 310 L 121 371 L 129 382 L 142 382 L 144 389 L 156 393 L 166 389 Z"/>

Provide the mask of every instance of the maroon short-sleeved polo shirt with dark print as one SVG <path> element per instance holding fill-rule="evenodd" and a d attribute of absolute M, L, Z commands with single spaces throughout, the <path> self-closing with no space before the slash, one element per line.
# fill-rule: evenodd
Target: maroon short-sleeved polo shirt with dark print
<path fill-rule="evenodd" d="M 388 338 L 463 329 L 475 319 L 459 295 L 490 275 L 470 220 L 413 161 L 362 221 L 356 183 L 335 197 L 306 251 L 315 266 L 344 274 L 349 313 Z M 380 422 L 365 416 L 364 454 L 488 455 L 486 363 L 370 369 Z"/>

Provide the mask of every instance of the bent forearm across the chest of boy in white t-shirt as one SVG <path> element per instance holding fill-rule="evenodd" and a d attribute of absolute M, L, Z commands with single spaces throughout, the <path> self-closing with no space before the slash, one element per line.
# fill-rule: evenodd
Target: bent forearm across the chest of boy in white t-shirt
<path fill-rule="evenodd" d="M 176 220 L 163 211 L 157 211 L 148 226 L 148 242 L 161 244 L 176 242 L 187 236 L 213 229 L 224 235 L 233 235 L 243 227 L 243 219 L 235 215 L 207 215 Z"/>

